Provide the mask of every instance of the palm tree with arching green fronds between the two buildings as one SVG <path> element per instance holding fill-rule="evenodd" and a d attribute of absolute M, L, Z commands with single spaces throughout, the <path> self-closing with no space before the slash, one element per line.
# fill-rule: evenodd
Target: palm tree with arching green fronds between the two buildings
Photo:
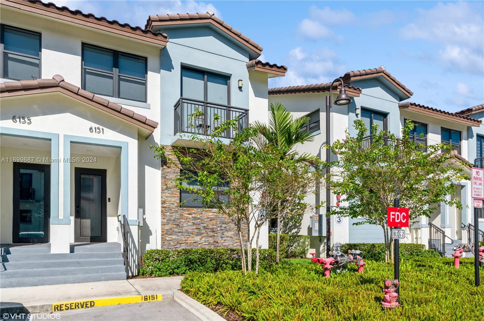
<path fill-rule="evenodd" d="M 293 118 L 282 103 L 276 102 L 274 105 L 271 102 L 271 119 L 269 119 L 269 125 L 260 123 L 259 121 L 254 122 L 252 125 L 260 134 L 257 138 L 257 145 L 261 147 L 265 144 L 273 144 L 281 151 L 282 157 L 290 157 L 301 162 L 313 162 L 315 160 L 314 155 L 309 153 L 299 155 L 295 150 L 297 144 L 304 144 L 305 142 L 312 142 L 314 140 L 313 133 L 305 130 L 309 120 L 309 117 Z M 279 227 L 280 221 L 280 211 L 277 211 L 277 263 L 279 262 L 281 235 L 281 229 Z"/>

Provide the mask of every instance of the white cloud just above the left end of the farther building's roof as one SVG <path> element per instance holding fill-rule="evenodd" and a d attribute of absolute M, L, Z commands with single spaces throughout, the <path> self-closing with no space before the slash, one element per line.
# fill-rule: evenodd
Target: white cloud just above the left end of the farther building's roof
<path fill-rule="evenodd" d="M 287 54 L 285 77 L 272 78 L 270 87 L 285 87 L 327 83 L 336 75 L 346 72 L 336 53 L 329 48 L 318 48 L 312 52 L 297 47 Z"/>

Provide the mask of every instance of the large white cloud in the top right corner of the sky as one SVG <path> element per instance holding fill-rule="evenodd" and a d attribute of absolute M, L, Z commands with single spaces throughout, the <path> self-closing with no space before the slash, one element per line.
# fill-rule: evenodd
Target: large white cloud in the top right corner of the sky
<path fill-rule="evenodd" d="M 478 7 L 482 10 L 481 5 Z M 483 74 L 484 28 L 474 3 L 438 3 L 429 10 L 418 9 L 417 18 L 400 29 L 405 39 L 420 39 L 442 45 L 437 55 L 447 70 Z"/>

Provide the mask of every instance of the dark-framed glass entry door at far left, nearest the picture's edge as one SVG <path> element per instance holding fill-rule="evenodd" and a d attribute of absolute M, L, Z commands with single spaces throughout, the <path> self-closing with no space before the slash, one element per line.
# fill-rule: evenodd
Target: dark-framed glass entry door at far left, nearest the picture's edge
<path fill-rule="evenodd" d="M 50 165 L 14 163 L 14 243 L 47 243 Z"/>

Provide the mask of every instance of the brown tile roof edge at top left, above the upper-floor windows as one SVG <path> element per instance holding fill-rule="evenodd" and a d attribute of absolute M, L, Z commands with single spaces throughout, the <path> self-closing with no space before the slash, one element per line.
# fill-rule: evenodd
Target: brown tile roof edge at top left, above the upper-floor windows
<path fill-rule="evenodd" d="M 90 22 L 96 21 L 97 25 L 105 25 L 105 26 L 113 27 L 118 30 L 126 30 L 129 33 L 131 33 L 133 36 L 136 35 L 135 37 L 138 39 L 143 39 L 143 40 L 151 39 L 151 40 L 159 41 L 163 45 L 165 45 L 166 41 L 168 40 L 168 36 L 166 35 L 166 33 L 163 33 L 163 32 L 154 32 L 151 29 L 143 29 L 138 26 L 133 27 L 127 23 L 120 23 L 116 20 L 108 20 L 105 17 L 97 17 L 93 14 L 85 14 L 80 10 L 71 10 L 66 6 L 59 7 L 52 2 L 46 3 L 40 0 L 29 0 L 29 1 L 1 0 L 1 4 L 27 10 L 30 12 L 40 13 L 42 15 L 47 12 L 49 13 L 49 16 L 57 14 L 55 17 L 61 18 L 62 20 L 65 20 L 66 18 L 75 18 L 74 21 L 70 21 L 70 22 L 81 23 L 82 21 L 90 21 Z M 35 11 L 35 9 L 41 10 L 41 12 Z M 129 35 L 129 34 L 126 34 L 126 35 Z M 139 36 L 145 36 L 145 38 L 143 37 L 140 38 Z M 146 37 L 149 39 L 147 39 Z"/>

